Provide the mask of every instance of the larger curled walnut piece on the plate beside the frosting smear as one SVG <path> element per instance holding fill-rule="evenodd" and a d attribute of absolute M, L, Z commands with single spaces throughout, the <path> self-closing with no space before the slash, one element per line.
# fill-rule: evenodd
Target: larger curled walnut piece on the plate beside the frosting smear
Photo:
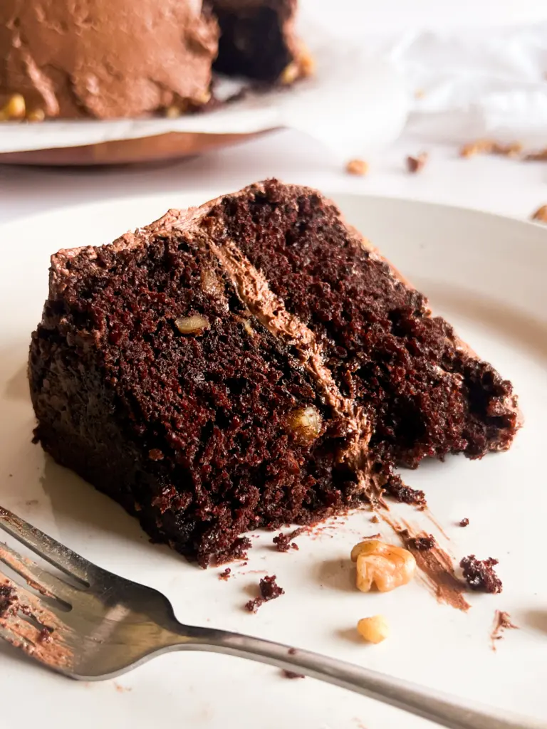
<path fill-rule="evenodd" d="M 406 585 L 416 572 L 416 559 L 408 550 L 387 545 L 378 539 L 360 542 L 352 549 L 352 562 L 357 562 L 357 589 L 370 592 L 373 585 L 379 592 L 389 592 Z"/>

